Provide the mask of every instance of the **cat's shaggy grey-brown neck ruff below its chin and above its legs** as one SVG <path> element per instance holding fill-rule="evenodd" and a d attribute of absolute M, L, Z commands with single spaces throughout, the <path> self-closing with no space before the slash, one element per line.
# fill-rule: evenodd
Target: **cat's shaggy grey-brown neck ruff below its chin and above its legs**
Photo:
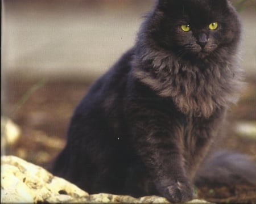
<path fill-rule="evenodd" d="M 228 63 L 208 64 L 202 69 L 171 61 L 170 57 L 156 57 L 151 69 L 144 69 L 143 63 L 135 66 L 133 74 L 137 79 L 158 95 L 171 97 L 185 115 L 208 118 L 216 109 L 236 100 L 236 88 L 232 87 L 236 79 Z"/>

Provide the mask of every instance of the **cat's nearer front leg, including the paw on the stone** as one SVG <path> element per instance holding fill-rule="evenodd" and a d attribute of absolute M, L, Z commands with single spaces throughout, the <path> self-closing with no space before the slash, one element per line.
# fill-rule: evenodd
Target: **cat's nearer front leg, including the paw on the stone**
<path fill-rule="evenodd" d="M 165 113 L 148 110 L 137 113 L 136 122 L 131 124 L 131 143 L 159 195 L 171 202 L 191 200 L 193 190 L 184 168 L 182 125 Z"/>

